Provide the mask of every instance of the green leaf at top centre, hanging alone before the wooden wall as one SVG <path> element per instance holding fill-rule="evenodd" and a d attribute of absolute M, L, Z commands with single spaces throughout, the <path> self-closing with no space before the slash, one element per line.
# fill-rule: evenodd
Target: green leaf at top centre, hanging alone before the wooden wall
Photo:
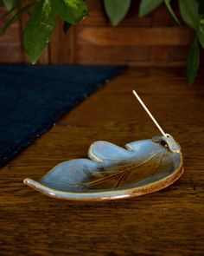
<path fill-rule="evenodd" d="M 105 0 L 105 12 L 112 22 L 113 26 L 118 25 L 127 14 L 131 0 Z"/>

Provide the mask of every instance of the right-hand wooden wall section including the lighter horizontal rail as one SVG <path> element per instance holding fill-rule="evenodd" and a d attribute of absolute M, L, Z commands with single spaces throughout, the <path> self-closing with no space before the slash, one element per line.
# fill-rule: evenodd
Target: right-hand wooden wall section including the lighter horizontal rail
<path fill-rule="evenodd" d="M 139 1 L 131 1 L 124 21 L 112 28 L 103 1 L 88 0 L 90 15 L 75 27 L 74 63 L 184 65 L 193 31 L 172 23 L 164 4 L 138 18 Z M 177 3 L 173 2 L 176 8 Z M 179 15 L 178 10 L 176 10 Z"/>

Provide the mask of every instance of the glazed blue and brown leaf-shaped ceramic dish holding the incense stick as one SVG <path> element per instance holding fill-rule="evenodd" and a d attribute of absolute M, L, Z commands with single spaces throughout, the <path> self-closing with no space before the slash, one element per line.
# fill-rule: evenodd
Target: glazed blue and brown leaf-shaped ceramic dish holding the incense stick
<path fill-rule="evenodd" d="M 88 159 L 65 161 L 41 181 L 24 183 L 64 200 L 116 200 L 148 194 L 176 181 L 183 172 L 182 152 L 171 135 L 134 141 L 120 148 L 96 141 Z"/>

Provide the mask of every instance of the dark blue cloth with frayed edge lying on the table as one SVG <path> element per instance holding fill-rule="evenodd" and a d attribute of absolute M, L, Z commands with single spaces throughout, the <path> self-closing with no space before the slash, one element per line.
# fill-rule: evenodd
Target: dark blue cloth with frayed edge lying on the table
<path fill-rule="evenodd" d="M 0 64 L 0 167 L 123 70 Z"/>

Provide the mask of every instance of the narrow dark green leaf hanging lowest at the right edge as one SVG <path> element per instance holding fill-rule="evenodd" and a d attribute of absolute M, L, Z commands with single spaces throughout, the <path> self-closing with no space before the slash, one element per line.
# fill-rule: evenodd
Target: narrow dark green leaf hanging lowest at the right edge
<path fill-rule="evenodd" d="M 194 41 L 191 43 L 190 48 L 188 50 L 188 58 L 187 58 L 187 78 L 188 83 L 192 84 L 197 75 L 198 68 L 200 62 L 200 49 L 198 43 L 198 37 L 194 35 Z"/>

